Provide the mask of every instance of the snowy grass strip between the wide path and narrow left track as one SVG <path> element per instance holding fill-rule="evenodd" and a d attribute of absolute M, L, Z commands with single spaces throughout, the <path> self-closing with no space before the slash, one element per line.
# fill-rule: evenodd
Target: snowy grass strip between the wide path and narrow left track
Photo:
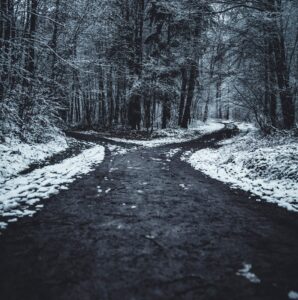
<path fill-rule="evenodd" d="M 94 146 L 61 163 L 37 169 L 0 184 L 0 216 L 5 219 L 5 222 L 0 223 L 0 229 L 17 218 L 33 216 L 42 208 L 42 205 L 36 205 L 41 199 L 66 190 L 67 185 L 76 178 L 91 172 L 95 165 L 103 161 L 104 153 L 104 147 Z"/>

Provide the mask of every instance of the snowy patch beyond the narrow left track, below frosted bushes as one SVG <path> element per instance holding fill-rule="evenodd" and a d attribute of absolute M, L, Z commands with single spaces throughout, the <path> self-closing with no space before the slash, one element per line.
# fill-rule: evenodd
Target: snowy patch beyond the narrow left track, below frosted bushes
<path fill-rule="evenodd" d="M 0 144 L 0 184 L 67 147 L 66 139 L 61 136 L 46 144 L 29 145 L 14 139 Z"/>

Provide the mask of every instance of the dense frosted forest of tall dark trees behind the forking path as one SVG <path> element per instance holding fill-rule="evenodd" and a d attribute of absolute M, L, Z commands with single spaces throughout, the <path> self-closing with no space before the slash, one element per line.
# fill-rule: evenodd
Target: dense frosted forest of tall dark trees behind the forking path
<path fill-rule="evenodd" d="M 0 9 L 2 138 L 210 117 L 295 127 L 297 1 L 1 0 Z"/>

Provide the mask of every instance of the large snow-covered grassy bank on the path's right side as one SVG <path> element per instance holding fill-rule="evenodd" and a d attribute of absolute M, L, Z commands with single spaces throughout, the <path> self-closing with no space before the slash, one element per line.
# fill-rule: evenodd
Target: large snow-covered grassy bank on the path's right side
<path fill-rule="evenodd" d="M 182 159 L 233 188 L 298 212 L 297 138 L 251 131 L 219 144 L 219 149 L 188 153 Z"/>

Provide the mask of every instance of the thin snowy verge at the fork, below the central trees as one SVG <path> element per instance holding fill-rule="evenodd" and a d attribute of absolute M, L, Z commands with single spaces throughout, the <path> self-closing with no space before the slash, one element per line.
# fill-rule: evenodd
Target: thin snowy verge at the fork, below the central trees
<path fill-rule="evenodd" d="M 124 138 L 105 137 L 108 140 L 126 144 L 134 144 L 147 148 L 153 148 L 168 144 L 188 142 L 202 135 L 219 131 L 225 127 L 224 124 L 210 120 L 207 123 L 197 121 L 191 125 L 189 129 L 161 129 L 153 134 L 153 139 L 150 140 L 134 140 Z M 89 133 L 90 134 L 90 133 Z"/>

